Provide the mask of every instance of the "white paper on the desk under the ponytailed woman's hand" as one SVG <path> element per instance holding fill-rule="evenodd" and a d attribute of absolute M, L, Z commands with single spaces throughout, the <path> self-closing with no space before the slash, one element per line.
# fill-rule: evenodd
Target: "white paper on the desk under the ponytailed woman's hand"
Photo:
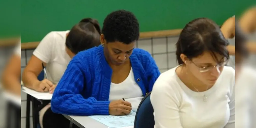
<path fill-rule="evenodd" d="M 35 97 L 38 100 L 51 100 L 53 97 L 53 94 L 50 94 L 49 92 L 37 92 L 24 86 L 22 88 L 23 92 Z"/>

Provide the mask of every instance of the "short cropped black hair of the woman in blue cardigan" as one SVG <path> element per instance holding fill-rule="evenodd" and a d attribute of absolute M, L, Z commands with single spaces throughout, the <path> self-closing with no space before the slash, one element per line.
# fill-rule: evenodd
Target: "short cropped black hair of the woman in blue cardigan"
<path fill-rule="evenodd" d="M 139 39 L 138 20 L 129 11 L 114 11 L 104 19 L 102 34 L 107 42 L 130 44 Z"/>

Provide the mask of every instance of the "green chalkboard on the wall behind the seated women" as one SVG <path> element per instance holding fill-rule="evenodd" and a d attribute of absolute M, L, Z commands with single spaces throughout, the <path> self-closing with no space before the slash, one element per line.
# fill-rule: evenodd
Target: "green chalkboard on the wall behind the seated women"
<path fill-rule="evenodd" d="M 208 17 L 222 24 L 254 0 L 23 0 L 22 42 L 39 41 L 50 31 L 69 30 L 81 18 L 102 25 L 113 10 L 133 12 L 141 32 L 183 28 L 190 20 Z M 102 27 L 102 26 L 101 26 Z"/>

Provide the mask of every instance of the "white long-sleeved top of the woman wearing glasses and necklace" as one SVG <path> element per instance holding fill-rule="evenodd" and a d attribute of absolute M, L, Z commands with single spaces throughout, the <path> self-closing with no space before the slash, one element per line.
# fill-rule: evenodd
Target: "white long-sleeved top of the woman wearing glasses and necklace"
<path fill-rule="evenodd" d="M 234 128 L 235 70 L 225 66 L 212 88 L 194 92 L 179 79 L 176 69 L 162 73 L 153 86 L 155 128 Z"/>

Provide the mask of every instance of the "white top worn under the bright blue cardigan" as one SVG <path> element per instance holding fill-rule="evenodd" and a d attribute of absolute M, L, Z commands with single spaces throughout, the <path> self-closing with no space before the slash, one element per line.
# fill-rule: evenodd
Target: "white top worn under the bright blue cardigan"
<path fill-rule="evenodd" d="M 143 99 L 143 93 L 134 79 L 132 68 L 128 77 L 123 82 L 118 84 L 111 82 L 110 84 L 109 101 L 122 98 L 131 103 L 132 111 L 135 112 Z"/>

